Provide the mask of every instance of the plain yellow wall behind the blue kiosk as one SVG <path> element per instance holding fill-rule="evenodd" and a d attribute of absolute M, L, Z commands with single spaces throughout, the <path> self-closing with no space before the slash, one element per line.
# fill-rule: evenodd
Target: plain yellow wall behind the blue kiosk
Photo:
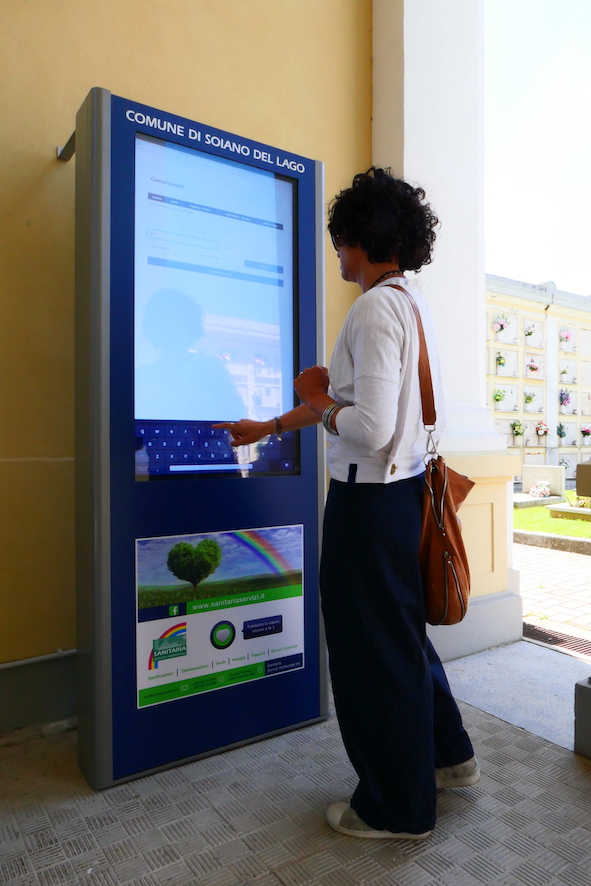
<path fill-rule="evenodd" d="M 0 32 L 0 660 L 75 646 L 74 163 L 88 90 L 325 163 L 329 199 L 371 163 L 371 0 L 41 0 Z M 355 289 L 327 243 L 327 345 Z"/>

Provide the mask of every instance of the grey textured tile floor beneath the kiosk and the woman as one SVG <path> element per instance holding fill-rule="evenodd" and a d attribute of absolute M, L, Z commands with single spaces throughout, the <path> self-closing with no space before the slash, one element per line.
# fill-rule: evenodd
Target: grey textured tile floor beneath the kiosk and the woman
<path fill-rule="evenodd" d="M 467 705 L 483 777 L 424 843 L 332 831 L 355 777 L 336 720 L 93 792 L 76 733 L 5 747 L 12 886 L 591 886 L 591 764 Z"/>

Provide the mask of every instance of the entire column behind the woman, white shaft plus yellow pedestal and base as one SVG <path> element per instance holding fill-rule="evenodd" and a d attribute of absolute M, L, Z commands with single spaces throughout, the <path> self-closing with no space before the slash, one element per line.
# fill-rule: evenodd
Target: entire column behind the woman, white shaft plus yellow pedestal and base
<path fill-rule="evenodd" d="M 373 162 L 423 187 L 441 220 L 417 276 L 441 356 L 441 451 L 476 481 L 462 511 L 473 597 L 466 619 L 429 629 L 444 659 L 521 637 L 511 569 L 519 470 L 486 399 L 483 225 L 483 0 L 373 0 Z"/>

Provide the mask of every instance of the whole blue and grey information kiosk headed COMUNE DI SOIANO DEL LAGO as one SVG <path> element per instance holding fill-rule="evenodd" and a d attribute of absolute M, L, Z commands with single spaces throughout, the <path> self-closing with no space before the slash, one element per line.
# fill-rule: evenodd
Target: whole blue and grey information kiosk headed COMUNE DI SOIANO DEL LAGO
<path fill-rule="evenodd" d="M 80 765 L 93 787 L 327 715 L 322 167 L 93 89 L 76 121 Z"/>

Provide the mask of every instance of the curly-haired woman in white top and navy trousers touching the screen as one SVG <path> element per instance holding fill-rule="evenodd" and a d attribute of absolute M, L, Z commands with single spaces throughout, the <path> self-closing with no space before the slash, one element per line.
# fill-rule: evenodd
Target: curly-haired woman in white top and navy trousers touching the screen
<path fill-rule="evenodd" d="M 327 821 L 370 839 L 429 836 L 436 787 L 480 773 L 425 631 L 418 566 L 426 432 L 418 381 L 419 306 L 438 414 L 441 380 L 429 312 L 405 271 L 431 261 L 438 220 L 421 188 L 372 167 L 333 201 L 329 231 L 344 280 L 361 295 L 322 366 L 295 380 L 302 405 L 229 427 L 233 445 L 323 422 L 330 435 L 320 589 L 345 747 L 359 776 Z"/>

